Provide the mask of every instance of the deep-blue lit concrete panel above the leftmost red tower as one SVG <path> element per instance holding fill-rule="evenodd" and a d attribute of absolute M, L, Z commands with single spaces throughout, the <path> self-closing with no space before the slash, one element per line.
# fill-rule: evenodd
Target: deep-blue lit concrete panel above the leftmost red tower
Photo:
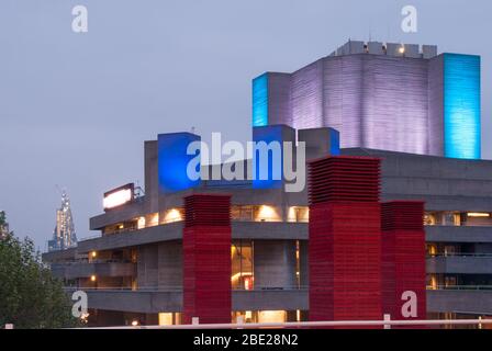
<path fill-rule="evenodd" d="M 159 134 L 158 178 L 159 190 L 172 193 L 200 185 L 200 180 L 190 180 L 187 174 L 188 163 L 195 155 L 187 155 L 188 145 L 200 140 L 200 136 L 190 133 Z M 197 170 L 200 171 L 200 163 Z"/>

